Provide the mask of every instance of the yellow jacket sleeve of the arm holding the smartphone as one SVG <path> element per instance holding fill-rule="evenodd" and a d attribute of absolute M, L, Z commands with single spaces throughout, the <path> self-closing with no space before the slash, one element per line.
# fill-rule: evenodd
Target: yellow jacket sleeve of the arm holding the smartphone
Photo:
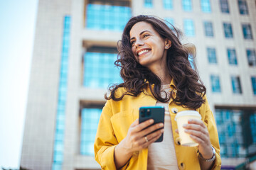
<path fill-rule="evenodd" d="M 97 128 L 95 137 L 95 160 L 100 164 L 102 169 L 115 170 L 114 164 L 114 147 L 118 144 L 117 139 L 114 135 L 114 130 L 110 118 L 112 117 L 112 110 L 106 105 L 100 115 L 100 121 Z"/>

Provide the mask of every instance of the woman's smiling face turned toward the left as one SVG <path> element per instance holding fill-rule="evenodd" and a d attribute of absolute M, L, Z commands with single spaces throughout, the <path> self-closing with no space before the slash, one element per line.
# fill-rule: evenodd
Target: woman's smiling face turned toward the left
<path fill-rule="evenodd" d="M 129 34 L 132 52 L 139 64 L 151 69 L 151 71 L 166 65 L 167 50 L 165 47 L 168 46 L 167 41 L 161 38 L 151 24 L 136 23 Z"/>

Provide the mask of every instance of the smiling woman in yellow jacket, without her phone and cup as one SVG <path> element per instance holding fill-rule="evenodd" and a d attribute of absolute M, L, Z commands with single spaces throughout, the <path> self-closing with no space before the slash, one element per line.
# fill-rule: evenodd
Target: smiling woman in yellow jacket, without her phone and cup
<path fill-rule="evenodd" d="M 95 159 L 102 169 L 220 169 L 206 87 L 188 61 L 191 48 L 181 45 L 178 35 L 153 16 L 135 16 L 125 26 L 115 63 L 124 83 L 105 96 L 95 138 Z M 139 107 L 159 105 L 166 108 L 164 125 L 139 123 Z M 185 127 L 198 147 L 180 145 L 174 118 L 185 110 L 202 116 Z M 163 132 L 164 141 L 154 143 Z"/>

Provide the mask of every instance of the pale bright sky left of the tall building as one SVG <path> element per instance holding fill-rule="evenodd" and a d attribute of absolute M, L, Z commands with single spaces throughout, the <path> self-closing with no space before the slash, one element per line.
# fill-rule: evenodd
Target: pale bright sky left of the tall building
<path fill-rule="evenodd" d="M 18 169 L 38 0 L 0 0 L 0 169 Z"/>

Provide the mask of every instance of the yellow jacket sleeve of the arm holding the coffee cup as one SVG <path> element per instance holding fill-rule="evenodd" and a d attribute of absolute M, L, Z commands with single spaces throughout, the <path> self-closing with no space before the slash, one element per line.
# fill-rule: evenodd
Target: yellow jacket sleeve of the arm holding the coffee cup
<path fill-rule="evenodd" d="M 216 159 L 215 159 L 215 163 L 213 165 L 212 170 L 217 170 L 217 169 L 220 169 L 220 166 L 221 166 L 220 143 L 218 139 L 218 131 L 217 131 L 217 126 L 213 116 L 213 112 L 210 111 L 210 106 L 206 96 L 204 97 L 204 99 L 206 99 L 206 103 L 204 104 L 204 107 L 203 107 L 203 110 L 205 110 L 205 114 L 206 114 L 204 118 L 204 122 L 206 123 L 206 126 L 208 128 L 208 132 L 210 135 L 210 143 L 211 145 L 213 145 L 213 147 L 216 150 Z"/>

